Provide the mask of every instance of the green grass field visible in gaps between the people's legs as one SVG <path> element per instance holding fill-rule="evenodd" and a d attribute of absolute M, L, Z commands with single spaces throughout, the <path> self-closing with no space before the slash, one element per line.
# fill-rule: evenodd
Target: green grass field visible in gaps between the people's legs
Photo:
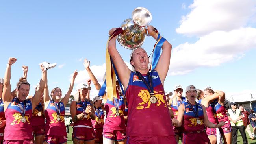
<path fill-rule="evenodd" d="M 250 127 L 250 130 L 252 131 L 252 127 Z M 73 142 L 72 142 L 72 133 L 73 133 L 73 127 L 70 126 L 69 127 L 67 144 L 73 144 Z M 246 133 L 246 136 L 247 136 L 248 144 L 256 144 L 256 140 L 250 139 L 248 133 L 247 132 L 245 132 L 245 133 Z M 181 141 L 179 141 L 179 144 L 181 144 Z M 241 134 L 240 134 L 239 130 L 238 130 L 237 144 L 243 144 L 243 139 L 241 137 Z"/>

